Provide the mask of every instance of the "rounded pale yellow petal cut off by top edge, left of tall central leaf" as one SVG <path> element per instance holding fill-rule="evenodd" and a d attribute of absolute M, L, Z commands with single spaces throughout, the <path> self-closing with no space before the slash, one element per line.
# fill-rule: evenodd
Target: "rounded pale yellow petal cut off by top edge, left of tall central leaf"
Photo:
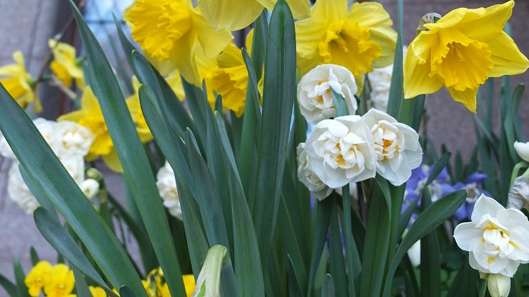
<path fill-rule="evenodd" d="M 263 10 L 255 0 L 199 0 L 204 17 L 216 28 L 240 30 L 250 25 Z"/>

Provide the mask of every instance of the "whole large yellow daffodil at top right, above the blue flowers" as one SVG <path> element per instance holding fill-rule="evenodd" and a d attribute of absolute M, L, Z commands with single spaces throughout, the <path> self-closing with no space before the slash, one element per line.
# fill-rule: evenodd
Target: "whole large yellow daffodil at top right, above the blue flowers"
<path fill-rule="evenodd" d="M 529 60 L 503 31 L 514 2 L 455 9 L 428 23 L 408 48 L 404 62 L 406 98 L 446 86 L 452 98 L 476 112 L 479 85 L 489 77 L 525 72 Z"/>

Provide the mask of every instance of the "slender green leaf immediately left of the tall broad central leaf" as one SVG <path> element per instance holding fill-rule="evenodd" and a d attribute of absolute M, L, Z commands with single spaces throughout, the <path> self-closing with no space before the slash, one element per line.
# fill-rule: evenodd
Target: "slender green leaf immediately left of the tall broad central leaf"
<path fill-rule="evenodd" d="M 265 285 L 257 245 L 257 235 L 252 222 L 252 214 L 247 205 L 243 186 L 231 151 L 224 121 L 215 113 L 216 128 L 221 140 L 223 159 L 228 161 L 230 176 L 231 212 L 233 213 L 233 249 L 235 250 L 235 277 L 238 280 L 241 296 L 264 296 Z"/>

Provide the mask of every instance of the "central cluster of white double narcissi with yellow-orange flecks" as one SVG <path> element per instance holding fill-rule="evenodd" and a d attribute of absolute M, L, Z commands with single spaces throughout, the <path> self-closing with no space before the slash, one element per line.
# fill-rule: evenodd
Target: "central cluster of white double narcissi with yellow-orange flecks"
<path fill-rule="evenodd" d="M 387 113 L 371 109 L 363 116 L 335 117 L 332 92 L 355 113 L 352 91 L 356 89 L 352 74 L 337 65 L 314 68 L 298 86 L 301 113 L 316 124 L 298 146 L 298 176 L 317 198 L 377 173 L 399 186 L 422 162 L 416 131 Z"/>

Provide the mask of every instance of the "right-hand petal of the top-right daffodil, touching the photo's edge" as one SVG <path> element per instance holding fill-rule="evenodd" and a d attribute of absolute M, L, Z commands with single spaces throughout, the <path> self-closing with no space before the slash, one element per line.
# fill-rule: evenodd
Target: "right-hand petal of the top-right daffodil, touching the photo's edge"
<path fill-rule="evenodd" d="M 501 77 L 503 75 L 516 75 L 525 72 L 529 67 L 529 60 L 520 52 L 513 38 L 505 32 L 496 35 L 496 38 L 488 40 L 491 60 L 494 66 L 489 72 L 490 77 Z"/>

